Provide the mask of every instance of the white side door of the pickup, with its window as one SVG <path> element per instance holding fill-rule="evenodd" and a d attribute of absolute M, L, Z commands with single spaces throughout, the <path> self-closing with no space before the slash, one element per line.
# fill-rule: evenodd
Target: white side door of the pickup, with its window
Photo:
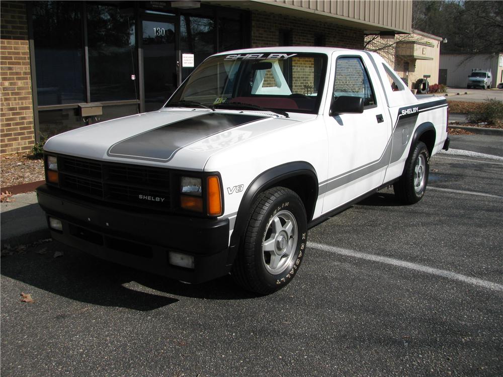
<path fill-rule="evenodd" d="M 340 96 L 363 98 L 364 111 L 324 117 L 328 135 L 324 213 L 380 186 L 389 164 L 389 114 L 384 103 L 377 103 L 380 97 L 376 96 L 364 56 L 337 58 L 332 102 Z"/>

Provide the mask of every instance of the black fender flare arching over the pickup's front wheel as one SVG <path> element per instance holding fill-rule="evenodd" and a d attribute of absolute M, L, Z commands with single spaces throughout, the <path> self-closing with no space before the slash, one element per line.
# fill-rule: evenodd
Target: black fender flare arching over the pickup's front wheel
<path fill-rule="evenodd" d="M 259 196 L 259 194 L 270 187 L 273 187 L 275 183 L 300 175 L 308 176 L 313 182 L 312 190 L 314 191 L 314 203 L 312 208 L 306 208 L 307 222 L 309 223 L 314 214 L 314 207 L 318 198 L 318 175 L 316 174 L 316 170 L 310 163 L 305 161 L 288 162 L 286 164 L 272 167 L 251 181 L 244 192 L 237 211 L 232 236 L 230 237 L 229 255 L 227 259 L 228 263 L 232 263 L 234 260 L 239 248 L 241 235 L 248 224 L 251 204 Z"/>

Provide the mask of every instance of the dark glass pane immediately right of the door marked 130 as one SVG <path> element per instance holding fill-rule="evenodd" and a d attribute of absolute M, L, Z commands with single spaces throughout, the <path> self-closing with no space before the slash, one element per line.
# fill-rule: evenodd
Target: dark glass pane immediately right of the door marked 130
<path fill-rule="evenodd" d="M 213 19 L 182 16 L 180 22 L 182 53 L 194 54 L 194 66 L 215 53 L 215 21 Z M 185 80 L 194 68 L 182 68 Z"/>

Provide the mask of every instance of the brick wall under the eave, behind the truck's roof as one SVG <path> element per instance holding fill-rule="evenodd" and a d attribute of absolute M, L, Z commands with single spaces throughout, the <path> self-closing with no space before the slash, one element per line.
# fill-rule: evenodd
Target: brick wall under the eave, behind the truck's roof
<path fill-rule="evenodd" d="M 294 46 L 314 46 L 314 38 L 317 35 L 324 37 L 327 47 L 363 49 L 364 46 L 365 36 L 360 29 L 279 14 L 251 13 L 252 47 L 278 46 L 279 33 L 284 30 L 292 33 Z"/>

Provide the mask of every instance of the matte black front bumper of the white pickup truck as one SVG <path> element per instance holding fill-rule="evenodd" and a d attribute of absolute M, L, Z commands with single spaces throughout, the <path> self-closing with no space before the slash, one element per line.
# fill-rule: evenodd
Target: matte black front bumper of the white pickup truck
<path fill-rule="evenodd" d="M 42 185 L 38 202 L 47 219 L 61 220 L 51 230 L 64 244 L 99 258 L 188 282 L 223 276 L 228 263 L 228 219 L 200 219 L 132 212 L 76 198 Z M 169 252 L 194 257 L 194 268 L 169 263 Z"/>

